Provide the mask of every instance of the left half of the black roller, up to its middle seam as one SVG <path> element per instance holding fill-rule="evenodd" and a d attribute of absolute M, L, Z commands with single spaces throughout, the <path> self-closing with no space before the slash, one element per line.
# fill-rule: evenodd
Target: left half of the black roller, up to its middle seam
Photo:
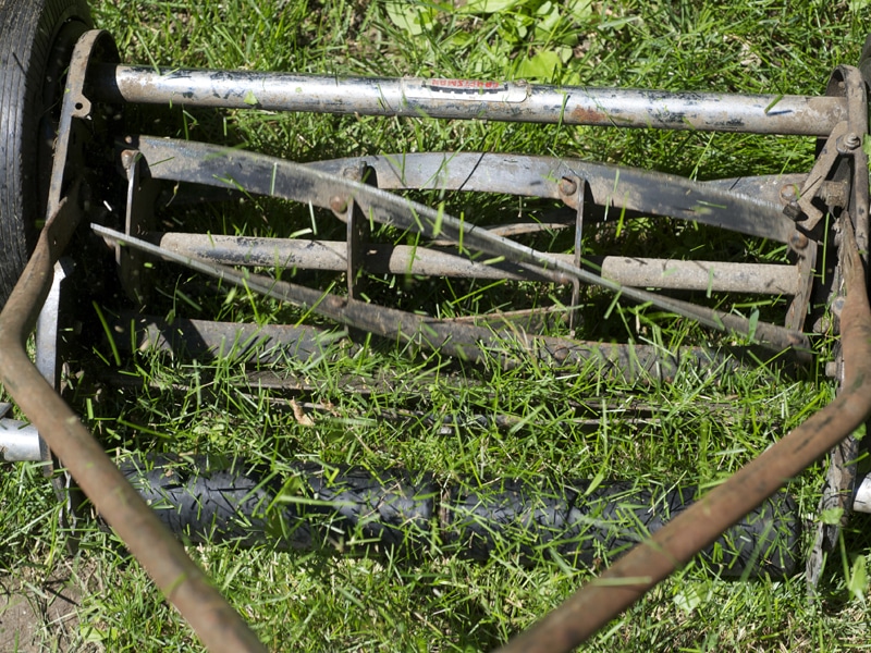
<path fill-rule="evenodd" d="M 235 460 L 133 458 L 121 470 L 175 534 L 191 542 L 263 542 L 281 549 L 430 542 L 437 490 L 427 475 L 299 464 L 277 479 Z"/>

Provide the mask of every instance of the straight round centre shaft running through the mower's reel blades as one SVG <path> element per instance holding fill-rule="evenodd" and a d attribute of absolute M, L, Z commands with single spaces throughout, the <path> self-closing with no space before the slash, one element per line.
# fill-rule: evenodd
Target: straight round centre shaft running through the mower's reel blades
<path fill-rule="evenodd" d="M 148 241 L 170 251 L 216 263 L 305 270 L 345 269 L 341 241 L 257 238 L 185 233 L 150 234 Z M 538 279 L 506 262 L 482 263 L 466 256 L 408 245 L 367 244 L 366 269 L 376 274 L 419 274 L 477 279 Z M 553 254 L 572 263 L 573 255 Z M 602 276 L 623 285 L 687 291 L 795 295 L 798 272 L 793 266 L 678 261 L 606 256 L 588 257 Z"/>

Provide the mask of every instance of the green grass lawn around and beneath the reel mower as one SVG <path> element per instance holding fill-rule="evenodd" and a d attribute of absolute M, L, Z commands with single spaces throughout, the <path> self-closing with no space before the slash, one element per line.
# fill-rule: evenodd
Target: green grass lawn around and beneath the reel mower
<path fill-rule="evenodd" d="M 835 65 L 858 60 L 871 28 L 863 2 L 516 0 L 490 1 L 488 7 L 473 0 L 465 9 L 331 0 L 91 4 L 97 24 L 115 37 L 128 62 L 354 75 L 526 76 L 555 84 L 766 94 L 823 93 Z M 500 12 L 489 11 L 495 5 Z M 806 171 L 813 160 L 811 139 L 774 136 L 257 111 L 216 114 L 177 108 L 136 111 L 132 123 L 144 133 L 244 144 L 299 161 L 482 150 L 576 157 L 704 180 Z M 418 197 L 439 199 L 431 194 Z M 502 197 L 464 196 L 447 202 L 454 214 L 464 212 L 487 223 L 505 212 L 506 202 L 511 215 L 545 217 L 559 208 Z M 261 198 L 196 213 L 162 211 L 159 219 L 167 225 L 183 222 L 252 235 L 290 236 L 312 229 L 307 207 Z M 321 235 L 336 230 L 335 223 L 329 213 L 315 213 Z M 378 235 L 396 242 L 409 238 L 389 230 Z M 565 246 L 559 235 L 547 238 L 553 247 Z M 683 229 L 678 238 L 674 225 L 643 219 L 629 223 L 621 237 L 605 232 L 585 247 L 636 255 L 665 249 L 686 258 L 698 258 L 703 250 L 725 260 L 777 260 L 783 254 L 770 244 L 694 226 Z M 151 299 L 151 312 L 260 323 L 300 319 L 297 309 L 160 268 L 163 283 Z M 324 289 L 343 283 L 335 275 L 279 273 Z M 555 286 L 488 285 L 373 278 L 368 292 L 379 301 L 425 307 L 443 316 L 567 300 L 565 291 Z M 724 342 L 650 308 L 621 305 L 611 319 L 601 320 L 611 297 L 589 293 L 584 301 L 587 315 L 599 316 L 581 325 L 581 335 L 588 337 L 634 338 L 664 347 Z M 284 393 L 246 384 L 245 366 L 233 356 L 192 362 L 150 352 L 123 355 L 124 373 L 134 379 L 133 385 L 113 390 L 91 384 L 90 374 L 99 377 L 114 367 L 111 348 L 100 345 L 71 401 L 112 452 L 238 454 L 279 478 L 286 476 L 291 463 L 317 460 L 430 470 L 443 482 L 518 478 L 544 486 L 564 479 L 628 478 L 667 489 L 679 483 L 708 486 L 725 479 L 822 408 L 835 392 L 817 369 L 796 380 L 774 366 L 722 379 L 685 368 L 674 383 L 658 384 L 606 378 L 593 368 L 530 362 L 505 370 L 498 365 L 458 365 L 390 343 L 364 345 L 353 354 L 336 346 L 316 360 L 282 361 L 272 369 L 304 386 Z M 366 394 L 355 391 L 363 384 L 370 389 Z M 314 424 L 300 423 L 287 407 L 291 398 L 321 407 Z M 634 412 L 638 404 L 645 409 Z M 457 426 L 445 431 L 414 415 L 384 417 L 414 411 L 454 416 Z M 475 415 L 501 416 L 513 426 L 482 427 L 473 423 Z M 809 523 L 818 518 L 822 471 L 817 466 L 790 483 Z M 35 467 L 4 467 L 0 505 L 0 570 L 8 578 L 40 587 L 65 565 L 84 575 L 90 591 L 79 601 L 71 650 L 199 650 L 187 626 L 112 535 L 87 526 L 82 552 L 72 562 L 66 557 L 66 533 L 58 530 L 56 501 Z M 830 563 L 813 599 L 808 599 L 800 576 L 778 582 L 727 581 L 694 563 L 603 629 L 589 649 L 862 648 L 866 605 L 848 590 L 844 567 L 868 555 L 861 532 L 866 527 L 862 516 L 854 518 L 845 539 L 846 559 L 838 555 Z M 529 627 L 592 578 L 589 571 L 554 563 L 547 553 L 530 566 L 504 547 L 491 560 L 475 563 L 445 555 L 438 542 L 431 555 L 413 563 L 391 555 L 282 553 L 268 546 L 252 551 L 192 545 L 188 551 L 275 651 L 488 650 Z M 51 640 L 49 625 L 47 650 Z"/>

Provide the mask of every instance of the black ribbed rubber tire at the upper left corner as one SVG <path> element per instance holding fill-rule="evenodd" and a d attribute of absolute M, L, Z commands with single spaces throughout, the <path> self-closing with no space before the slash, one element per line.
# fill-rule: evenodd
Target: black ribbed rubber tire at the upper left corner
<path fill-rule="evenodd" d="M 0 0 L 0 307 L 36 244 L 62 76 L 90 26 L 85 0 Z"/>

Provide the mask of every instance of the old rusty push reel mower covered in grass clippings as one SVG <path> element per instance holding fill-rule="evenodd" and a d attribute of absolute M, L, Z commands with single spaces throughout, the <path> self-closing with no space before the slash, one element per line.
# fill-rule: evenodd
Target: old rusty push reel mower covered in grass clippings
<path fill-rule="evenodd" d="M 27 420 L 0 420 L 0 451 L 8 461 L 64 470 L 50 476 L 68 505 L 65 519 L 77 518 L 71 488 L 81 489 L 209 650 L 261 645 L 177 538 L 271 538 L 287 549 L 356 538 L 412 556 L 426 555 L 427 542 L 438 538 L 474 559 L 516 541 L 523 556 L 549 547 L 580 567 L 599 569 L 616 558 L 601 582 L 579 590 L 506 648 L 563 651 L 698 553 L 726 576 L 796 572 L 801 519 L 781 488 L 825 455 L 820 510 L 836 508 L 842 517 L 819 527 L 809 582 L 819 578 L 850 512 L 871 512 L 871 482 L 857 473 L 860 448 L 852 436 L 871 411 L 863 148 L 871 40 L 858 65 L 835 69 L 819 97 L 343 78 L 123 63 L 112 36 L 91 28 L 83 0 L 5 0 L 0 66 L 0 380 Z M 708 182 L 504 152 L 298 163 L 232 143 L 130 127 L 127 114 L 148 106 L 778 134 L 815 137 L 818 153 L 808 171 Z M 511 210 L 473 220 L 452 211 L 468 194 L 540 201 L 553 210 L 547 220 Z M 329 215 L 330 237 L 293 229 L 283 238 L 197 232 L 195 220 L 189 226 L 176 220 L 170 231 L 159 219 L 172 202 L 254 196 Z M 771 243 L 782 248 L 782 262 L 736 261 L 715 251 L 710 260 L 614 256 L 586 246 L 606 241 L 615 223 L 639 218 Z M 235 287 L 298 307 L 304 319 L 243 324 L 151 315 L 161 266 L 210 280 L 201 283 L 207 293 L 216 284 Z M 294 281 L 270 274 L 283 270 L 295 271 Z M 344 286 L 318 285 L 327 274 L 342 275 Z M 547 291 L 527 291 L 535 300 L 500 311 L 444 317 L 409 309 L 407 301 L 390 305 L 390 294 L 372 287 L 372 279 L 403 278 L 508 280 Z M 576 338 L 582 322 L 599 319 L 580 310 L 589 293 L 608 297 L 612 307 L 643 305 L 698 323 L 722 334 L 722 346 L 670 350 Z M 549 294 L 553 300 L 541 306 Z M 727 301 L 706 300 L 729 294 L 770 297 L 778 308 L 746 316 Z M 107 301 L 115 306 L 98 309 L 95 322 L 91 307 Z M 35 361 L 26 346 L 34 330 Z M 542 494 L 512 479 L 484 482 L 469 475 L 443 482 L 428 470 L 306 463 L 289 467 L 305 501 L 277 509 L 289 481 L 234 452 L 220 460 L 134 456 L 120 468 L 107 456 L 65 401 L 83 352 L 106 334 L 131 350 L 194 359 L 232 350 L 249 362 L 252 379 L 275 386 L 286 385 L 286 377 L 275 368 L 262 373 L 262 366 L 315 359 L 336 341 L 346 353 L 375 338 L 459 366 L 554 366 L 667 383 L 678 369 L 734 374 L 758 360 L 801 367 L 814 360 L 823 335 L 836 334 L 839 344 L 825 369 L 841 392 L 707 493 L 581 479 Z M 120 360 L 115 342 L 111 346 Z M 130 374 L 110 380 L 123 384 Z M 451 427 L 444 416 L 417 418 Z"/>

